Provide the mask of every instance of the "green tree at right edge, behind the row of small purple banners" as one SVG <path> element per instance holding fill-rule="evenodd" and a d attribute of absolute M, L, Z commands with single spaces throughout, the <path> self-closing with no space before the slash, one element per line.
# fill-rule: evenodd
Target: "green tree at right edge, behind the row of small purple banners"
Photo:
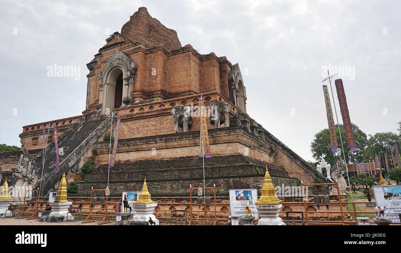
<path fill-rule="evenodd" d="M 396 133 L 392 132 L 375 133 L 375 135 L 369 135 L 368 147 L 365 149 L 363 154 L 363 160 L 369 159 L 370 157 L 375 157 L 375 155 L 380 155 L 379 152 L 381 151 L 386 152 L 387 149 L 394 149 L 394 144 L 399 141 L 399 139 L 400 137 Z M 393 163 L 389 152 L 387 152 L 387 155 L 389 156 L 389 163 Z M 385 161 L 382 159 L 381 162 L 382 168 L 385 168 Z"/>

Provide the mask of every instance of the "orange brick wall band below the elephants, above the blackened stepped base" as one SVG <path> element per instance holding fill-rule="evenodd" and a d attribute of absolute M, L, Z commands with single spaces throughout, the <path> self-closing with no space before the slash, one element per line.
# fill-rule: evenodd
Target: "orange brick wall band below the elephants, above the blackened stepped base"
<path fill-rule="evenodd" d="M 157 125 L 156 127 L 160 126 Z M 135 130 L 133 131 L 135 132 Z M 152 130 L 151 127 L 148 131 L 149 133 L 159 133 L 157 130 Z M 109 133 L 109 130 L 106 133 Z M 124 135 L 121 138 L 124 138 Z M 270 148 L 263 145 L 259 139 L 245 133 L 239 127 L 211 129 L 209 138 L 211 151 L 214 155 L 242 154 L 260 161 L 273 163 L 273 157 L 269 155 Z M 99 141 L 103 141 L 103 138 L 101 137 Z M 95 148 L 99 154 L 96 158 L 96 163 L 107 163 L 109 159 L 109 143 L 104 141 L 96 143 Z M 120 139 L 119 136 L 117 152 L 117 161 L 192 157 L 199 155 L 199 132 L 138 139 Z"/>

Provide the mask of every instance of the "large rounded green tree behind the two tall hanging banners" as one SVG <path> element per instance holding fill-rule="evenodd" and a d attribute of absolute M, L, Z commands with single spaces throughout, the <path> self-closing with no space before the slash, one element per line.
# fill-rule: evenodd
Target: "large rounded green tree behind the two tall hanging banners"
<path fill-rule="evenodd" d="M 362 162 L 363 161 L 362 156 L 364 154 L 363 152 L 367 147 L 367 142 L 368 142 L 366 133 L 361 131 L 356 124 L 352 124 L 352 130 L 354 131 L 356 148 L 358 150 L 350 153 L 343 124 L 340 124 L 340 130 L 347 163 Z M 336 125 L 336 135 L 337 135 L 338 147 L 341 148 L 340 135 L 338 133 L 338 125 Z M 323 129 L 314 136 L 314 140 L 310 144 L 310 151 L 312 152 L 314 159 L 319 161 L 320 159 L 322 159 L 322 154 L 323 154 L 324 160 L 333 165 L 334 153 L 331 150 L 330 134 L 328 129 Z"/>

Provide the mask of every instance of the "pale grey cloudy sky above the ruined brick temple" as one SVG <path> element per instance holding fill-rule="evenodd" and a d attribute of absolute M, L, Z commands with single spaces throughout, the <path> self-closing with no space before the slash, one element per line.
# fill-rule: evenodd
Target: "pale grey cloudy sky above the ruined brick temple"
<path fill-rule="evenodd" d="M 343 70 L 353 123 L 367 134 L 397 131 L 396 0 L 0 0 L 0 143 L 20 147 L 22 126 L 81 114 L 85 65 L 141 6 L 176 30 L 183 46 L 238 62 L 248 114 L 306 160 L 314 134 L 327 128 L 327 68 Z M 54 64 L 80 66 L 80 78 L 48 77 Z"/>

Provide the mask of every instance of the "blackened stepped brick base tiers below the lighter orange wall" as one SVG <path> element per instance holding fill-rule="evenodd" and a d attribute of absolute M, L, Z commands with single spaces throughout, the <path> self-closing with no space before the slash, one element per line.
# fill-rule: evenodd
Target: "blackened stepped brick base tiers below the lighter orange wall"
<path fill-rule="evenodd" d="M 140 190 L 146 177 L 151 193 L 186 193 L 188 186 L 203 185 L 203 160 L 200 157 L 142 160 L 117 163 L 110 169 L 109 188 L 113 194 L 129 189 Z M 265 163 L 243 155 L 231 155 L 206 160 L 207 186 L 217 185 L 219 192 L 229 189 L 260 189 L 263 184 Z M 258 168 L 258 169 L 257 169 Z M 80 193 L 90 187 L 106 187 L 108 165 L 99 165 L 84 177 L 88 182 L 77 182 Z M 297 179 L 289 178 L 279 167 L 269 164 L 273 184 L 296 186 Z M 99 188 L 101 189 L 101 188 Z"/>

